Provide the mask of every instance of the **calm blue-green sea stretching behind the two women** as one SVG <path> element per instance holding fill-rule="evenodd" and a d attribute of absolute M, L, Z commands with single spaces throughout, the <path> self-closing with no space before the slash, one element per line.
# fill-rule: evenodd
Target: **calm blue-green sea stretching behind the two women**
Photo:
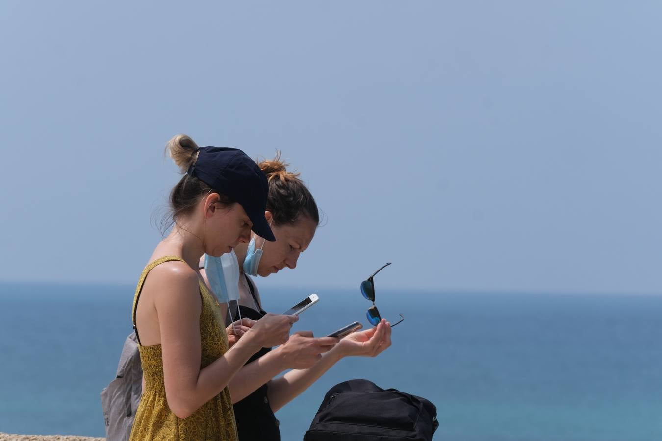
<path fill-rule="evenodd" d="M 105 436 L 99 393 L 132 331 L 134 286 L 0 284 L 0 432 Z M 263 288 L 267 311 L 311 294 Z M 371 305 L 317 291 L 294 330 L 326 335 Z M 434 440 L 661 441 L 662 295 L 379 290 L 395 322 L 375 358 L 340 360 L 276 413 L 302 440 L 324 393 L 365 378 L 437 407 Z"/>

